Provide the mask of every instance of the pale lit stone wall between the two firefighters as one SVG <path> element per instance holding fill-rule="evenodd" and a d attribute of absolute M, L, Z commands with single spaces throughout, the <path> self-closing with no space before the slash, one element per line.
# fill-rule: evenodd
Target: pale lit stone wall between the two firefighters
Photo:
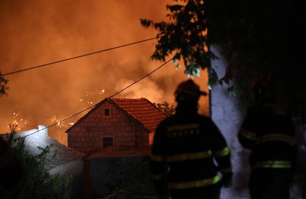
<path fill-rule="evenodd" d="M 228 63 L 225 58 L 222 58 L 218 48 L 211 47 L 211 51 L 219 58 L 212 62 L 212 67 L 220 79 L 224 76 Z M 222 86 L 219 84 L 212 86 L 210 91 L 210 116 L 229 145 L 233 164 L 233 187 L 230 189 L 223 188 L 221 198 L 246 199 L 250 197 L 248 193 L 249 150 L 242 148 L 237 139 L 237 132 L 244 117 L 244 108 L 238 105 L 235 96 L 228 96 L 227 88 L 232 84 L 233 82 L 230 82 L 230 85 L 223 82 Z"/>

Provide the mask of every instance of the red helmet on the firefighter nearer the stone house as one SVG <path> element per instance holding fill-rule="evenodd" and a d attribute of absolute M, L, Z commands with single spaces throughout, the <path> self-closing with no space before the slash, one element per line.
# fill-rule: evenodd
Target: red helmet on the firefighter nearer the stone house
<path fill-rule="evenodd" d="M 204 95 L 206 96 L 207 93 L 200 91 L 200 87 L 195 84 L 192 80 L 183 81 L 180 84 L 178 84 L 174 94 L 192 94 L 195 96 Z"/>

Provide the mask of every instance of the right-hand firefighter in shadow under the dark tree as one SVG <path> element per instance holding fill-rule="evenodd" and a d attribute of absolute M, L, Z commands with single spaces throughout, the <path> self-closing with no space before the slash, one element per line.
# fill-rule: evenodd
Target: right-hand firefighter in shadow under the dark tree
<path fill-rule="evenodd" d="M 252 93 L 257 104 L 248 109 L 238 132 L 241 145 L 251 149 L 251 198 L 289 199 L 297 161 L 293 121 L 276 105 L 275 86 L 269 78 L 255 79 Z"/>

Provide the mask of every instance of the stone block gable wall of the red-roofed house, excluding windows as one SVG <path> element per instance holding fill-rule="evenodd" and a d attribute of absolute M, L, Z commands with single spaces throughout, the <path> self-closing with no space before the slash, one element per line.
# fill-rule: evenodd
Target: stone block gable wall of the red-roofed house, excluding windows
<path fill-rule="evenodd" d="M 111 107 L 110 118 L 103 118 L 105 107 Z M 114 136 L 116 146 L 149 145 L 148 131 L 113 103 L 105 101 L 68 132 L 68 146 L 92 154 L 102 149 L 103 136 Z"/>

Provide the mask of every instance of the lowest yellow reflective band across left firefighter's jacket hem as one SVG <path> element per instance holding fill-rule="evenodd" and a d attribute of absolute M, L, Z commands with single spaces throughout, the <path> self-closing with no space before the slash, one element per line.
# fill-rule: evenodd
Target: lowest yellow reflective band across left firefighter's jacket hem
<path fill-rule="evenodd" d="M 212 185 L 220 181 L 220 177 L 216 175 L 213 178 L 208 178 L 204 180 L 196 180 L 189 182 L 169 182 L 169 189 L 188 189 L 196 188 L 201 186 Z"/>

